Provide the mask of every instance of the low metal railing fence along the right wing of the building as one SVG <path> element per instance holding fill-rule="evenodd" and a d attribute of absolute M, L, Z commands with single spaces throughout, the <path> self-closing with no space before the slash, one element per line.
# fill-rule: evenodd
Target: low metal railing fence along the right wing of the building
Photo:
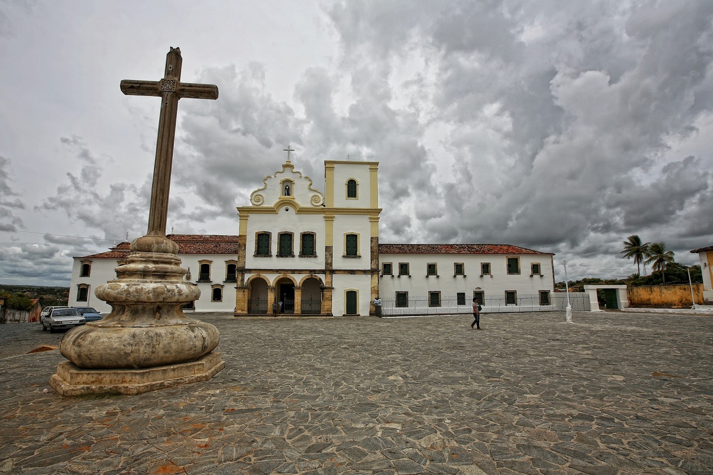
<path fill-rule="evenodd" d="M 567 308 L 567 296 L 565 293 L 550 293 L 548 301 L 540 301 L 539 295 L 520 295 L 515 299 L 516 303 L 506 303 L 505 296 L 486 296 L 481 305 L 482 313 L 518 313 L 518 312 L 555 312 L 564 311 Z M 463 303 L 464 302 L 464 303 Z M 407 306 L 396 306 L 396 298 L 384 298 L 381 303 L 381 313 L 384 316 L 401 315 L 456 315 L 473 313 L 473 303 L 471 299 L 460 303 L 456 296 L 446 296 L 438 302 L 440 305 L 431 305 L 434 302 L 429 297 L 409 296 Z M 544 305 L 543 305 L 544 303 Z M 570 305 L 573 311 L 590 311 L 589 296 L 585 292 L 570 292 Z"/>

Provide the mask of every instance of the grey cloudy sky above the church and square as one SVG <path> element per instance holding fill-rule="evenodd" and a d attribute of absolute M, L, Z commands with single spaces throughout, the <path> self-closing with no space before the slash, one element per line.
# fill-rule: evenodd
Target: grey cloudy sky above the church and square
<path fill-rule="evenodd" d="M 145 232 L 169 46 L 168 227 L 237 234 L 284 162 L 380 162 L 380 241 L 515 244 L 623 277 L 622 241 L 713 244 L 709 0 L 0 0 L 0 283 Z M 323 188 L 323 187 L 322 187 Z M 15 230 L 15 231 L 8 231 Z M 81 239 L 93 238 L 93 239 Z"/>

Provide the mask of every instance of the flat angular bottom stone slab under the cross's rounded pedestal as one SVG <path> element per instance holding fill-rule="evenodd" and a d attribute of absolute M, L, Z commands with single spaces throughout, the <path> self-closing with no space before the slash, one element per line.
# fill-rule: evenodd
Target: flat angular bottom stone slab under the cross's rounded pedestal
<path fill-rule="evenodd" d="M 210 380 L 225 367 L 220 353 L 208 353 L 198 360 L 138 370 L 83 369 L 73 362 L 57 365 L 57 374 L 49 384 L 61 396 L 120 393 L 138 395 L 189 382 Z"/>

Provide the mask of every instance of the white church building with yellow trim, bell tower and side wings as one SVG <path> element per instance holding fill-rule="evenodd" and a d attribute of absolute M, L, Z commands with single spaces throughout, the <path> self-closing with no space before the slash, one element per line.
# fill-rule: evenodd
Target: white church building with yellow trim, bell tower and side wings
<path fill-rule="evenodd" d="M 501 298 L 511 311 L 523 296 L 551 305 L 553 254 L 508 244 L 379 244 L 379 162 L 327 160 L 324 193 L 312 185 L 288 154 L 237 208 L 237 234 L 168 235 L 186 279 L 200 288 L 196 311 L 264 314 L 275 303 L 294 315 L 374 315 L 376 296 L 384 315 L 467 313 L 474 297 Z M 75 257 L 69 305 L 111 311 L 93 289 L 116 278 L 128 252 L 123 242 Z"/>

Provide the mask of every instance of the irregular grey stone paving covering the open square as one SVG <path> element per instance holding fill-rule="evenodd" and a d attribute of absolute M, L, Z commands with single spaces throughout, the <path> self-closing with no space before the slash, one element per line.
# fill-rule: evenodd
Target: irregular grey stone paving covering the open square
<path fill-rule="evenodd" d="M 713 473 L 710 317 L 195 316 L 225 370 L 138 396 L 59 397 L 62 334 L 0 325 L 0 474 Z"/>

